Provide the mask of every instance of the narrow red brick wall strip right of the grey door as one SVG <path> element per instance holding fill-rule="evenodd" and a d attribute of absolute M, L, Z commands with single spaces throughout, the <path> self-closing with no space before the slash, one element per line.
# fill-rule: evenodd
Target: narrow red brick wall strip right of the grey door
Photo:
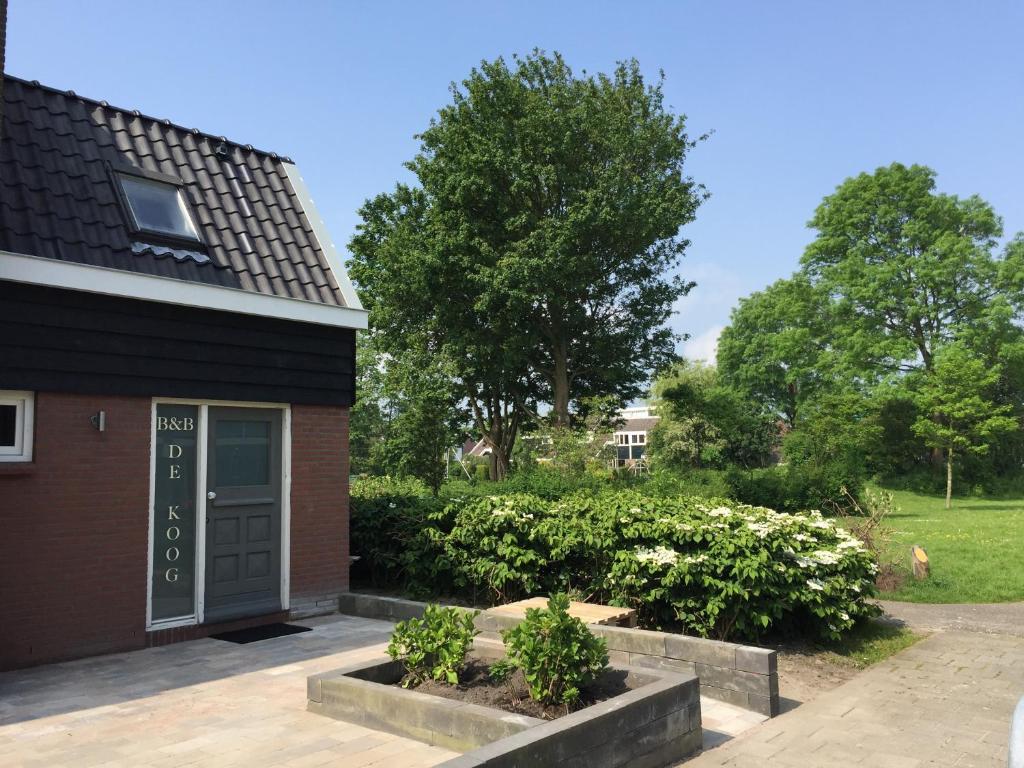
<path fill-rule="evenodd" d="M 292 407 L 293 605 L 348 589 L 348 409 Z"/>

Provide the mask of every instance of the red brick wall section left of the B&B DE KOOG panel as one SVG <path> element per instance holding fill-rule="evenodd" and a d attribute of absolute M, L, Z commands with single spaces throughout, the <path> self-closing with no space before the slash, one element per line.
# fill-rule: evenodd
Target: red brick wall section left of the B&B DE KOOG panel
<path fill-rule="evenodd" d="M 150 413 L 36 394 L 34 462 L 0 464 L 0 669 L 144 645 Z"/>

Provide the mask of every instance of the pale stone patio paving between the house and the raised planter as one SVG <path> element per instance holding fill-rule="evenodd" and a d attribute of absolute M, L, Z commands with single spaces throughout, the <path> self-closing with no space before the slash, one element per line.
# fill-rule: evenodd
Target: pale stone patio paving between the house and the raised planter
<path fill-rule="evenodd" d="M 392 626 L 334 615 L 249 645 L 196 640 L 0 674 L 0 765 L 431 766 L 454 753 L 305 711 L 305 680 L 380 653 Z M 764 720 L 703 698 L 706 743 Z"/>

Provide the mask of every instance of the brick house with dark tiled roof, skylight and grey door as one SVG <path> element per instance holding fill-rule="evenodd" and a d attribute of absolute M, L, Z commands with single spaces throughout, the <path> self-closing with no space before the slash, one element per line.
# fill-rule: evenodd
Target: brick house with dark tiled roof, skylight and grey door
<path fill-rule="evenodd" d="M 0 669 L 333 610 L 367 314 L 298 168 L 0 104 Z"/>

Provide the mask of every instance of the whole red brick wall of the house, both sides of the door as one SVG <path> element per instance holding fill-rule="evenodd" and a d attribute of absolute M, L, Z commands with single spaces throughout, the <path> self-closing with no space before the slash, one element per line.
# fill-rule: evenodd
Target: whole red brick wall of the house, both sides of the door
<path fill-rule="evenodd" d="M 33 463 L 0 464 L 0 669 L 146 644 L 151 413 L 37 393 Z M 346 590 L 347 409 L 293 407 L 291 509 L 293 604 Z"/>

